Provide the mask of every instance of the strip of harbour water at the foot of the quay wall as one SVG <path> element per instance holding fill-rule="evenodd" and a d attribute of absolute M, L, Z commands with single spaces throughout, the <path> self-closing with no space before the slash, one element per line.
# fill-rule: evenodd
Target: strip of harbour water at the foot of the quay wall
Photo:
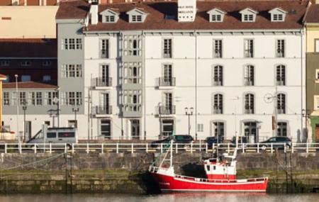
<path fill-rule="evenodd" d="M 0 202 L 318 202 L 318 193 L 267 194 L 267 193 L 166 193 L 159 195 L 128 195 L 111 193 L 75 194 L 12 194 L 0 195 Z"/>

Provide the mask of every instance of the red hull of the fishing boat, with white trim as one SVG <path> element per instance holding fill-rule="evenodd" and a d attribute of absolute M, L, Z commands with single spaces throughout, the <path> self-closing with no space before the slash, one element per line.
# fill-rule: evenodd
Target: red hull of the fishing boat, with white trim
<path fill-rule="evenodd" d="M 266 192 L 268 179 L 219 181 L 196 179 L 186 176 L 169 176 L 151 172 L 159 188 L 172 191 L 216 191 L 216 192 Z"/>

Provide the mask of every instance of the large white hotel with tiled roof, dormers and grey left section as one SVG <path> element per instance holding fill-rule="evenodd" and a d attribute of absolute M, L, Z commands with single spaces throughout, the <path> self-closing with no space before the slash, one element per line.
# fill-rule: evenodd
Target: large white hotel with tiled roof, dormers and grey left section
<path fill-rule="evenodd" d="M 60 126 L 72 119 L 67 106 L 77 104 L 80 139 L 150 140 L 174 131 L 194 139 L 237 133 L 250 142 L 274 135 L 301 141 L 307 6 L 62 2 Z"/>

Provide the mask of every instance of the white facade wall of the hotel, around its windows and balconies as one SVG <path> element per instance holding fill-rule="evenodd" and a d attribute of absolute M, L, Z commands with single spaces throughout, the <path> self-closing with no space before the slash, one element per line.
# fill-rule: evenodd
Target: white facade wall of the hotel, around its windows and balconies
<path fill-rule="evenodd" d="M 266 30 L 265 30 L 266 31 Z M 287 30 L 285 30 L 287 31 Z M 245 122 L 255 123 L 259 140 L 276 135 L 272 130 L 272 117 L 276 116 L 276 99 L 271 97 L 283 93 L 286 95 L 286 112 L 278 114 L 278 122 L 286 123 L 286 135 L 294 141 L 301 140 L 301 125 L 304 123 L 301 111 L 305 107 L 305 62 L 304 38 L 302 30 L 267 30 L 218 33 L 179 33 L 159 34 L 159 31 L 145 32 L 143 35 L 143 97 L 142 116 L 121 118 L 121 51 L 118 45 L 120 33 L 111 35 L 86 34 L 84 40 L 85 86 L 89 89 L 91 77 L 101 77 L 101 64 L 109 65 L 111 87 L 92 91 L 92 106 L 101 105 L 101 94 L 109 93 L 111 115 L 92 118 L 93 134 L 101 134 L 100 120 L 111 120 L 111 138 L 131 139 L 131 120 L 140 120 L 140 139 L 157 139 L 159 137 L 159 116 L 156 111 L 159 103 L 164 103 L 164 93 L 172 93 L 172 106 L 176 112 L 162 115 L 160 118 L 174 120 L 174 133 L 188 133 L 188 116 L 184 108 L 194 108 L 190 116 L 191 135 L 204 139 L 216 135 L 214 122 L 224 123 L 225 139 L 231 139 L 237 133 L 245 135 Z M 107 34 L 107 33 L 105 33 Z M 172 58 L 162 54 L 163 40 L 172 39 Z M 109 40 L 109 58 L 101 59 L 99 46 L 101 39 Z M 222 58 L 213 57 L 213 40 L 223 41 Z M 244 40 L 254 41 L 254 56 L 244 57 Z M 276 57 L 276 40 L 285 43 L 284 57 Z M 176 78 L 174 86 L 156 84 L 163 77 L 163 65 L 172 64 L 172 77 Z M 254 66 L 254 85 L 245 86 L 244 74 L 247 64 Z M 276 66 L 286 67 L 286 84 L 276 88 Z M 213 67 L 223 67 L 223 86 L 213 85 Z M 245 94 L 254 95 L 254 113 L 245 113 Z M 85 94 L 88 94 L 86 92 Z M 213 113 L 213 95 L 223 95 L 223 113 Z M 269 97 L 270 95 L 270 97 Z M 301 99 L 302 98 L 302 99 Z M 87 111 L 87 106 L 85 111 Z M 303 127 L 305 125 L 303 124 Z M 162 125 L 163 127 L 163 125 Z M 254 126 L 253 126 L 254 127 Z M 123 136 L 121 131 L 123 130 Z M 252 129 L 254 130 L 254 129 Z M 246 131 L 247 132 L 247 131 Z M 220 132 L 221 133 L 221 132 Z M 221 134 L 220 134 L 221 135 Z M 101 136 L 100 136 L 101 137 Z M 250 138 L 250 142 L 257 141 Z"/>

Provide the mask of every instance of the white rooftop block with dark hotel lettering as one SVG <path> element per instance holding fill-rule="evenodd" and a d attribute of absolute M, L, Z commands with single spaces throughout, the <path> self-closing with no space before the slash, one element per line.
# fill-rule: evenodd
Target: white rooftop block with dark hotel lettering
<path fill-rule="evenodd" d="M 196 16 L 196 0 L 178 0 L 179 22 L 194 22 Z"/>

